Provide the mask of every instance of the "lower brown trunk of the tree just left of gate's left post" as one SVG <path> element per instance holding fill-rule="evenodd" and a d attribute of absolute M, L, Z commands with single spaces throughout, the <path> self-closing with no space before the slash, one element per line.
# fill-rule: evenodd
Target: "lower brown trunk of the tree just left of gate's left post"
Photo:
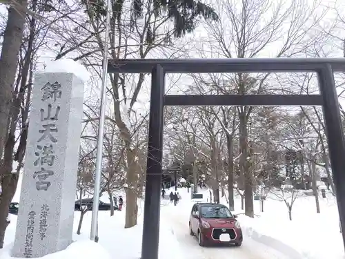
<path fill-rule="evenodd" d="M 134 227 L 137 224 L 137 166 L 135 163 L 135 150 L 127 148 L 127 184 L 126 188 L 126 223 L 125 229 Z"/>

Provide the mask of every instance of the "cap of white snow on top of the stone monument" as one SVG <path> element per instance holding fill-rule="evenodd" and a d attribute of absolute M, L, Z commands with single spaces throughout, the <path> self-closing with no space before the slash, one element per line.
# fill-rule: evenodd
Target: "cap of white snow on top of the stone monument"
<path fill-rule="evenodd" d="M 73 73 L 84 83 L 90 79 L 90 73 L 85 66 L 73 59 L 57 59 L 46 64 L 46 68 L 40 73 Z"/>

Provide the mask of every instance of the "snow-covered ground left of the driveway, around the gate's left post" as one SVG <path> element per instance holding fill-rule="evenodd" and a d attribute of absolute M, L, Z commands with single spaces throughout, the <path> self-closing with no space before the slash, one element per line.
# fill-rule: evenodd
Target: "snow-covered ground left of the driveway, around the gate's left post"
<path fill-rule="evenodd" d="M 130 229 L 124 229 L 124 211 L 115 211 L 110 217 L 109 211 L 99 211 L 99 242 L 95 243 L 88 239 L 90 233 L 91 212 L 84 216 L 81 227 L 81 235 L 75 234 L 79 222 L 80 213 L 75 213 L 73 239 L 76 240 L 70 246 L 58 253 L 44 256 L 44 259 L 139 259 L 141 257 L 142 240 L 142 217 L 139 216 L 138 224 Z M 10 249 L 14 240 L 17 216 L 10 215 L 11 223 L 6 231 L 5 248 L 0 249 L 0 258 L 9 259 Z M 168 221 L 161 219 L 159 229 L 159 258 L 160 259 L 184 259 L 179 251 L 179 243 L 172 233 Z M 174 247 L 174 253 L 167 253 Z M 111 257 L 110 257 L 111 255 Z"/>

